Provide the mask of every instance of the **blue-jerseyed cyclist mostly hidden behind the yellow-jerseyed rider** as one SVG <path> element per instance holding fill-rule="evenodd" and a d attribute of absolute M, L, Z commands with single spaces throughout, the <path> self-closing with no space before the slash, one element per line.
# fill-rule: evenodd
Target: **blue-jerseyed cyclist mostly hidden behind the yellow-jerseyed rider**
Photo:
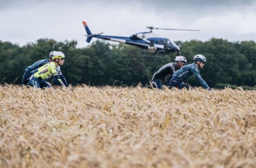
<path fill-rule="evenodd" d="M 31 77 L 31 75 L 33 73 L 37 72 L 38 68 L 40 68 L 41 66 L 43 66 L 45 64 L 48 64 L 49 62 L 52 62 L 52 56 L 56 52 L 58 52 L 58 51 L 50 52 L 50 54 L 49 54 L 50 58 L 49 59 L 39 60 L 39 61 L 35 62 L 34 64 L 28 66 L 25 69 L 25 72 L 24 72 L 23 77 L 22 77 L 22 83 L 23 83 L 22 85 L 28 85 L 29 77 Z M 61 78 L 61 80 L 63 81 L 63 83 L 65 84 L 65 86 L 68 87 L 67 81 L 66 81 L 65 77 L 63 76 L 63 74 L 61 72 L 61 67 L 58 66 L 56 71 L 57 71 L 59 77 Z"/>

